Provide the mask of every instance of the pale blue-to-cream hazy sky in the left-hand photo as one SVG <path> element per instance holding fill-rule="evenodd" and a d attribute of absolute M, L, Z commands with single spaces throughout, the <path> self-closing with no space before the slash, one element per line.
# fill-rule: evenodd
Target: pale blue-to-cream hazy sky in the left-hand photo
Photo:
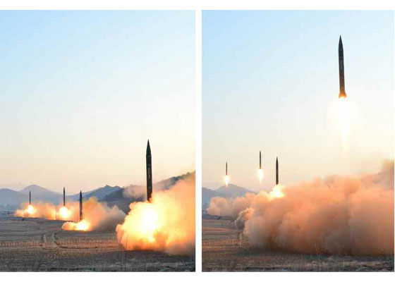
<path fill-rule="evenodd" d="M 67 192 L 194 170 L 193 11 L 0 11 L 0 184 Z"/>

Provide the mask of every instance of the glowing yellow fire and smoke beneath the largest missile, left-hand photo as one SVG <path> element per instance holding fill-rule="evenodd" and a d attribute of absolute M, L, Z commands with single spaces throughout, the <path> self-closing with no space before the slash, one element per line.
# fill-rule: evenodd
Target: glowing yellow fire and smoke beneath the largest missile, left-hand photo
<path fill-rule="evenodd" d="M 127 250 L 157 250 L 171 255 L 195 253 L 195 173 L 169 190 L 155 191 L 152 202 L 133 202 L 116 227 Z"/>

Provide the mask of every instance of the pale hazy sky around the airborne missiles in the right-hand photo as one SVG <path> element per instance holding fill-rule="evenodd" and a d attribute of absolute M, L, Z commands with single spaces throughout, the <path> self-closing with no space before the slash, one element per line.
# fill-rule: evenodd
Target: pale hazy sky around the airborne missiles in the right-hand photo
<path fill-rule="evenodd" d="M 378 171 L 394 155 L 393 11 L 204 11 L 203 185 L 272 188 Z M 338 44 L 351 111 L 337 121 Z M 257 180 L 259 150 L 265 178 Z M 217 186 L 218 187 L 218 186 Z"/>

